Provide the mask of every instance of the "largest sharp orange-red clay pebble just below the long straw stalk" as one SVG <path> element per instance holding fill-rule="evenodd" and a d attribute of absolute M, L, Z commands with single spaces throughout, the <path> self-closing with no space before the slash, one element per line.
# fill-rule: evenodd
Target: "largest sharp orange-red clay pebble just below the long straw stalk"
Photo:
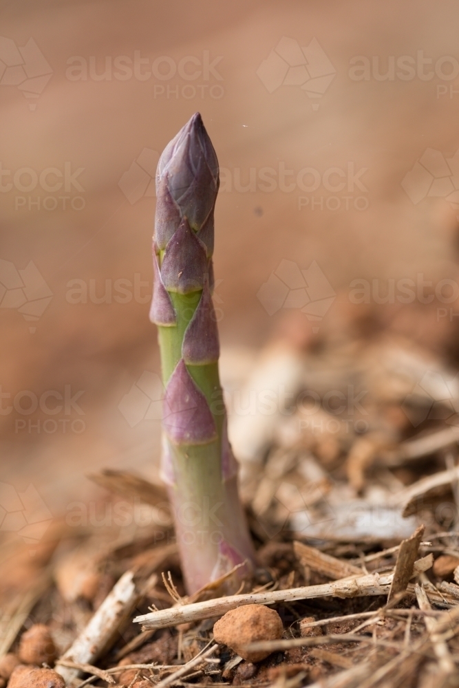
<path fill-rule="evenodd" d="M 250 652 L 243 649 L 248 643 L 274 641 L 282 637 L 284 628 L 281 617 L 275 610 L 264 605 L 242 605 L 226 612 L 213 627 L 217 643 L 228 645 L 248 662 L 260 662 L 270 652 Z"/>

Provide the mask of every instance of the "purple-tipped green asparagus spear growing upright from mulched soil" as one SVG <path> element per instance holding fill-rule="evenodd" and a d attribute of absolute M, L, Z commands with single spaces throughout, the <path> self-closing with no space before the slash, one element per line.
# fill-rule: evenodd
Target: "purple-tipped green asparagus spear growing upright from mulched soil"
<path fill-rule="evenodd" d="M 164 149 L 156 171 L 153 238 L 163 405 L 162 478 L 175 517 L 189 593 L 253 561 L 237 494 L 218 374 L 213 288 L 213 213 L 218 161 L 199 113 Z"/>

